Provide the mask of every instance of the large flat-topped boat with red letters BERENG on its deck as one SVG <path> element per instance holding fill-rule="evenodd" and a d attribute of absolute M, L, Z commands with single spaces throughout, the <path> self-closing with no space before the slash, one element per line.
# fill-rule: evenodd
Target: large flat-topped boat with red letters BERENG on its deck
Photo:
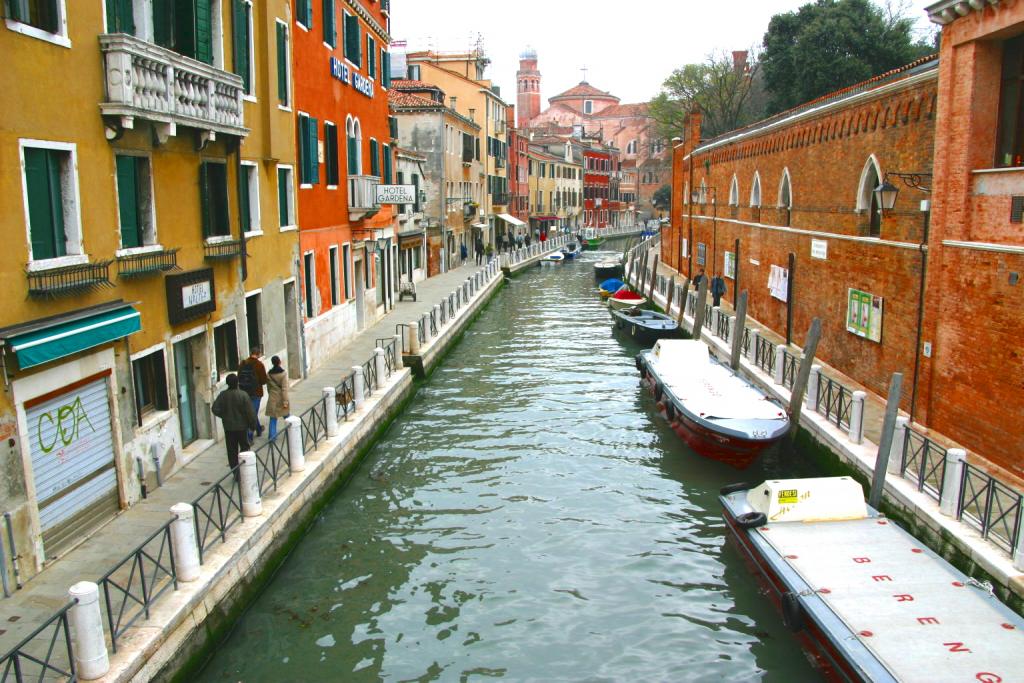
<path fill-rule="evenodd" d="M 1020 678 L 1024 618 L 867 505 L 851 477 L 733 484 L 719 501 L 761 592 L 826 680 Z"/>

